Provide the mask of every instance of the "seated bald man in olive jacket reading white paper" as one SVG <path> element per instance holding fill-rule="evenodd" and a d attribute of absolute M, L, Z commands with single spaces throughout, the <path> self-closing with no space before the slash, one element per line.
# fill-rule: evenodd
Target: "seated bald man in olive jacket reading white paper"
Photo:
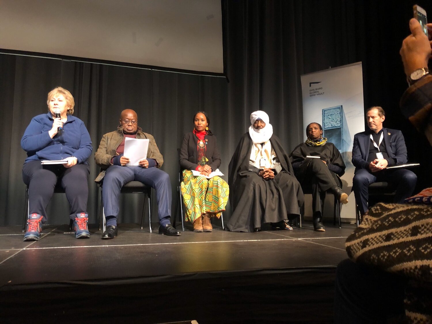
<path fill-rule="evenodd" d="M 102 137 L 98 151 L 95 153 L 96 164 L 101 167 L 101 173 L 95 181 L 103 181 L 102 201 L 106 215 L 106 230 L 102 239 L 114 238 L 118 234 L 119 195 L 124 184 L 130 181 L 140 181 L 156 189 L 160 219 L 159 234 L 180 235 L 171 225 L 171 183 L 169 175 L 159 169 L 163 157 L 155 139 L 138 127 L 137 113 L 132 109 L 122 111 L 119 122 L 120 126 L 117 130 L 106 133 Z M 126 137 L 149 139 L 147 158 L 140 160 L 139 165 L 127 165 L 129 158 L 123 154 Z"/>

